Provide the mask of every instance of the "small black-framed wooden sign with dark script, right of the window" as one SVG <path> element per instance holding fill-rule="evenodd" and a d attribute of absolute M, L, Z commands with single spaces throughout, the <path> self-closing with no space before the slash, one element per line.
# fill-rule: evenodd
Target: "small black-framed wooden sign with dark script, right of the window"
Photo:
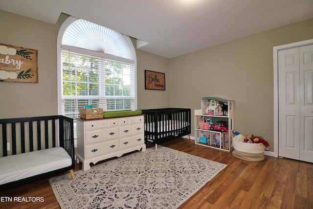
<path fill-rule="evenodd" d="M 145 70 L 145 89 L 165 90 L 165 73 Z"/>

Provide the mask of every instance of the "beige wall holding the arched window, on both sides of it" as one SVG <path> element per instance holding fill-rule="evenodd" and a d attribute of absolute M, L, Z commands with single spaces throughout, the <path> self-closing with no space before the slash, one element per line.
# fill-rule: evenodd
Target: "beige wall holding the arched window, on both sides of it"
<path fill-rule="evenodd" d="M 53 25 L 0 10 L 0 43 L 38 50 L 38 84 L 0 82 L 0 118 L 57 115 L 57 35 Z M 134 44 L 135 41 L 133 40 Z M 169 59 L 136 50 L 138 109 L 170 105 Z M 144 70 L 164 72 L 166 91 L 144 89 Z"/>

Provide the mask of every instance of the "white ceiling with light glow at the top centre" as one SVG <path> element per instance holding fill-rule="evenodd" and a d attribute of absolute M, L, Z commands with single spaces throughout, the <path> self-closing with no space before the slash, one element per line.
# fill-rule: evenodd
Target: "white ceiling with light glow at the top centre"
<path fill-rule="evenodd" d="M 313 0 L 0 0 L 0 9 L 52 24 L 63 12 L 168 58 L 313 18 Z"/>

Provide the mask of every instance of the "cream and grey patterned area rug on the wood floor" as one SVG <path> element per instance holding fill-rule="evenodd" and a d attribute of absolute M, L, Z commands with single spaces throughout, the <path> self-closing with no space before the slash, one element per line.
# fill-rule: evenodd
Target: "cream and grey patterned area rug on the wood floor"
<path fill-rule="evenodd" d="M 158 146 L 49 182 L 62 209 L 176 209 L 226 166 Z"/>

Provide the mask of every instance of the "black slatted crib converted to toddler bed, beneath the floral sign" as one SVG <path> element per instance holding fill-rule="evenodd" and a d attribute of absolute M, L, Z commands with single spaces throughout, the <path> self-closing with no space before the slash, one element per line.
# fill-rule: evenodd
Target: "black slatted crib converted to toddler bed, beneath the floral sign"
<path fill-rule="evenodd" d="M 66 116 L 37 116 L 0 119 L 0 167 L 4 167 L 6 165 L 4 162 L 7 162 L 7 160 L 12 161 L 12 159 L 17 159 L 16 157 L 18 157 L 18 155 L 19 162 L 14 162 L 14 165 L 17 168 L 22 167 L 21 165 L 29 163 L 30 161 L 32 162 L 33 167 L 35 167 L 39 164 L 38 162 L 40 160 L 40 162 L 43 163 L 42 159 L 31 158 L 35 152 L 36 155 L 38 152 L 45 155 L 47 153 L 46 151 L 49 153 L 57 152 L 56 155 L 58 155 L 60 153 L 59 150 L 62 150 L 62 154 L 67 156 L 67 165 L 61 163 L 57 166 L 58 169 L 56 170 L 50 168 L 51 171 L 41 171 L 39 170 L 40 168 L 37 168 L 38 166 L 36 166 L 37 170 L 34 171 L 34 175 L 29 171 L 29 169 L 32 168 L 32 166 L 30 166 L 29 169 L 27 169 L 27 173 L 30 173 L 28 177 L 22 177 L 22 179 L 19 180 L 14 179 L 11 180 L 11 182 L 0 184 L 0 190 L 68 170 L 71 173 L 72 179 L 74 179 L 72 170 L 75 168 L 73 133 L 73 119 Z M 61 147 L 65 151 L 61 149 Z M 63 155 L 60 158 L 63 158 Z M 29 160 L 24 162 L 24 159 Z M 61 162 L 59 158 L 49 159 L 48 163 L 51 161 L 54 161 L 56 164 Z M 10 171 L 8 170 L 8 172 Z M 1 175 L 3 174 L 2 171 L 0 173 Z"/>

